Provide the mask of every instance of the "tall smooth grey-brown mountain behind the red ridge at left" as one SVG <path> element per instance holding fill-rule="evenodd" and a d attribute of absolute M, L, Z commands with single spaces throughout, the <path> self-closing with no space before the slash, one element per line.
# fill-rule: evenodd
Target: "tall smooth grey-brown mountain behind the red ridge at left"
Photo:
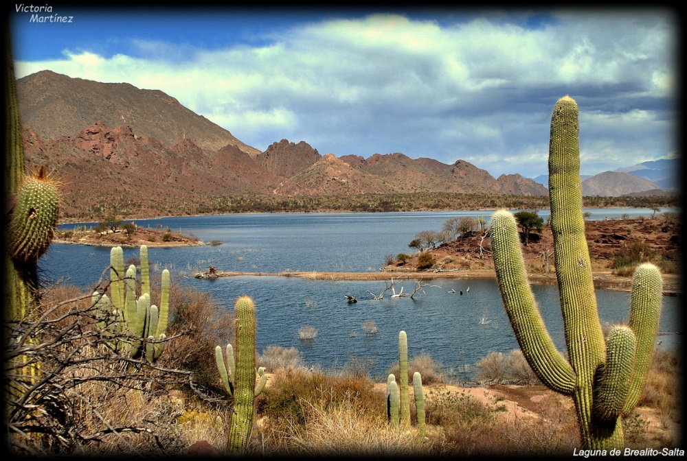
<path fill-rule="evenodd" d="M 168 147 L 190 139 L 206 152 L 227 144 L 248 154 L 260 152 L 159 90 L 41 71 L 17 80 L 16 92 L 22 123 L 44 140 L 74 136 L 100 121 L 110 128 L 128 126 L 137 136 L 153 137 Z"/>

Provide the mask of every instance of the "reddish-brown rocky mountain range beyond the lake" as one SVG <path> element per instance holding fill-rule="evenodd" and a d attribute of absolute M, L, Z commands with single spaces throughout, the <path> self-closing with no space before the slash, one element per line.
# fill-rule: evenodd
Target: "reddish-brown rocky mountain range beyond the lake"
<path fill-rule="evenodd" d="M 67 214 L 97 215 L 108 206 L 174 209 L 246 194 L 548 193 L 519 174 L 494 178 L 462 160 L 447 165 L 401 153 L 337 158 L 286 139 L 260 152 L 174 97 L 128 83 L 41 71 L 17 80 L 17 93 L 27 167 L 44 165 L 64 183 Z"/>

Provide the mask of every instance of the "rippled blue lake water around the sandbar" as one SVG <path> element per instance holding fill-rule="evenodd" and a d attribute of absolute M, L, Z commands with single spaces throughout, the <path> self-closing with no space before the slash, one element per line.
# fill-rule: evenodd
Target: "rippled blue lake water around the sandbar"
<path fill-rule="evenodd" d="M 651 216 L 651 209 L 587 210 L 588 219 L 613 219 L 624 214 Z M 672 210 L 671 210 L 672 211 Z M 194 279 L 192 274 L 214 265 L 218 270 L 240 272 L 376 272 L 386 255 L 409 252 L 409 241 L 423 230 L 439 230 L 450 217 L 483 215 L 491 211 L 427 211 L 401 213 L 267 213 L 167 217 L 137 220 L 138 226 L 171 228 L 203 241 L 220 240 L 220 246 L 148 248 L 157 270 L 168 268 L 177 283 L 209 292 L 232 309 L 236 297 L 248 294 L 256 301 L 258 353 L 269 345 L 297 348 L 308 366 L 341 367 L 351 357 L 370 364 L 374 377 L 383 377 L 398 360 L 398 331 L 408 335 L 409 356 L 427 353 L 459 377 L 471 379 L 471 368 L 489 351 L 508 353 L 517 342 L 506 317 L 495 280 L 438 279 L 425 281 L 414 299 L 374 300 L 384 281 L 324 281 L 287 276 L 236 276 L 215 280 Z M 540 211 L 545 217 L 547 211 Z M 75 224 L 60 226 L 69 230 Z M 66 281 L 82 287 L 97 283 L 109 265 L 109 248 L 52 245 L 41 259 L 46 281 Z M 124 259 L 136 258 L 137 248 L 125 248 Z M 395 289 L 412 292 L 414 281 Z M 467 287 L 470 291 L 467 292 Z M 564 347 L 563 326 L 555 286 L 534 286 L 542 316 L 554 342 Z M 451 293 L 455 290 L 455 293 Z M 463 295 L 460 295 L 463 290 Z M 349 304 L 350 294 L 358 303 Z M 629 294 L 597 290 L 602 322 L 628 318 Z M 682 296 L 665 296 L 660 324 L 662 347 L 681 344 Z M 486 317 L 490 320 L 480 324 Z M 370 335 L 363 323 L 372 321 L 378 331 Z M 298 329 L 315 327 L 317 337 L 302 341 Z M 212 353 L 212 351 L 208 351 Z"/>

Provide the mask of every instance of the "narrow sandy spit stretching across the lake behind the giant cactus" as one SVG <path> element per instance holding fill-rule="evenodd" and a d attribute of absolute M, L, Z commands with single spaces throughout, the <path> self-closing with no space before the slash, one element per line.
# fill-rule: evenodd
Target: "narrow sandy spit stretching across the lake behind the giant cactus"
<path fill-rule="evenodd" d="M 284 272 L 232 272 L 218 271 L 214 276 L 209 276 L 207 272 L 197 272 L 196 279 L 216 279 L 218 277 L 236 276 L 280 276 L 280 277 L 300 277 L 311 280 L 327 281 L 380 281 L 380 280 L 433 280 L 433 279 L 496 279 L 496 272 L 493 269 L 482 270 L 453 270 L 443 272 L 403 272 L 403 271 L 384 271 L 384 272 L 318 272 L 318 271 L 284 271 Z M 618 292 L 631 292 L 632 277 L 622 277 L 611 274 L 611 272 L 594 272 L 594 288 L 608 289 Z M 663 274 L 664 296 L 681 296 L 680 286 L 681 277 L 678 274 Z M 530 274 L 528 279 L 532 285 L 556 285 L 556 274 Z"/>

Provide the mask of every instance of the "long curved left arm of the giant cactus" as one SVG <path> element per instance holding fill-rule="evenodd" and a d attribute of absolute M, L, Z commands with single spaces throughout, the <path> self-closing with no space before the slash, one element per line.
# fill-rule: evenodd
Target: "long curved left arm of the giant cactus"
<path fill-rule="evenodd" d="M 575 374 L 556 349 L 537 309 L 512 213 L 505 210 L 494 213 L 491 246 L 499 291 L 523 355 L 546 386 L 561 394 L 572 393 Z"/>

